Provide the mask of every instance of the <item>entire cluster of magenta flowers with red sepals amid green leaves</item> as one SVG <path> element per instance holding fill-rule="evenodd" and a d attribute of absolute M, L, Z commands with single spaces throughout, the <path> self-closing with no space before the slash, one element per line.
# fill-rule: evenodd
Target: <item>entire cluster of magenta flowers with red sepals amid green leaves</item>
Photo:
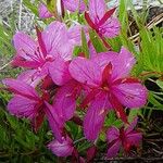
<path fill-rule="evenodd" d="M 120 52 L 112 51 L 105 40 L 120 34 L 118 20 L 113 17 L 115 9 L 108 11 L 104 0 L 89 0 L 88 8 L 79 0 L 62 0 L 61 3 L 64 10 L 84 13 L 87 24 L 67 27 L 54 21 L 45 30 L 36 27 L 36 39 L 22 32 L 14 35 L 16 55 L 12 65 L 25 71 L 16 79 L 3 80 L 13 92 L 9 112 L 28 118 L 35 131 L 47 118 L 54 136 L 48 148 L 58 156 L 78 155 L 65 129 L 66 122 L 77 118 L 85 138 L 93 143 L 110 111 L 115 111 L 128 127 L 109 128 L 108 156 L 115 156 L 121 146 L 125 151 L 138 147 L 141 134 L 134 130 L 137 120 L 129 124 L 125 109 L 145 105 L 147 89 L 129 76 L 136 63 L 134 55 L 124 47 Z M 54 16 L 42 3 L 39 15 L 41 18 Z M 108 51 L 96 51 L 88 35 L 90 29 L 99 35 Z M 82 32 L 86 35 L 89 58 L 84 52 L 73 54 L 74 48 L 82 46 Z M 79 110 L 85 110 L 85 115 L 78 115 Z"/>

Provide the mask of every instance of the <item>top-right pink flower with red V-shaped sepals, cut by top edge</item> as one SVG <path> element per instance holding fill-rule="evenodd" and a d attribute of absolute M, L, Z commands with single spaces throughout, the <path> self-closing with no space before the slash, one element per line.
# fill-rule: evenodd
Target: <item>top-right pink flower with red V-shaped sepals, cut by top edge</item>
<path fill-rule="evenodd" d="M 104 0 L 89 0 L 89 13 L 85 13 L 87 23 L 97 32 L 106 47 L 104 37 L 112 38 L 120 34 L 118 20 L 111 17 L 115 9 L 106 11 Z"/>

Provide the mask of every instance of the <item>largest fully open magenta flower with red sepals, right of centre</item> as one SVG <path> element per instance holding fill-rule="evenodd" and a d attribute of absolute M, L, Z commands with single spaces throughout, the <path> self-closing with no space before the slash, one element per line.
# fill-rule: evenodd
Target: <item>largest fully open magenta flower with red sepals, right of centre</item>
<path fill-rule="evenodd" d="M 88 105 L 84 118 L 85 136 L 96 140 L 106 112 L 114 109 L 127 123 L 123 106 L 139 108 L 146 104 L 147 89 L 137 79 L 127 77 L 135 59 L 125 48 L 116 52 L 100 53 L 92 59 L 76 58 L 70 64 L 74 79 L 89 87 L 83 108 Z"/>

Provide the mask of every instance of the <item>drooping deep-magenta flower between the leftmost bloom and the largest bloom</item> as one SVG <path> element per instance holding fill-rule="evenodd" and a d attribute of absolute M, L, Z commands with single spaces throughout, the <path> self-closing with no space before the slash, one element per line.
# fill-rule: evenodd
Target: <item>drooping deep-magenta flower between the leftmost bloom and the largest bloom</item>
<path fill-rule="evenodd" d="M 65 122 L 74 116 L 76 99 L 79 97 L 80 90 L 80 84 L 72 79 L 58 89 L 52 105 L 46 103 L 50 127 L 60 142 L 65 136 L 63 133 Z"/>

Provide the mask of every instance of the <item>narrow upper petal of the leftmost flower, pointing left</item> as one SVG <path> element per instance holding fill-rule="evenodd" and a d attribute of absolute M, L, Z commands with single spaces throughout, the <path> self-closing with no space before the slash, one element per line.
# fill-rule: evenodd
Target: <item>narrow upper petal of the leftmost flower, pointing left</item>
<path fill-rule="evenodd" d="M 39 97 L 36 90 L 32 86 L 23 83 L 22 80 L 7 78 L 7 79 L 3 79 L 2 82 L 15 95 L 20 95 L 20 96 L 26 97 L 35 101 L 39 100 Z"/>

